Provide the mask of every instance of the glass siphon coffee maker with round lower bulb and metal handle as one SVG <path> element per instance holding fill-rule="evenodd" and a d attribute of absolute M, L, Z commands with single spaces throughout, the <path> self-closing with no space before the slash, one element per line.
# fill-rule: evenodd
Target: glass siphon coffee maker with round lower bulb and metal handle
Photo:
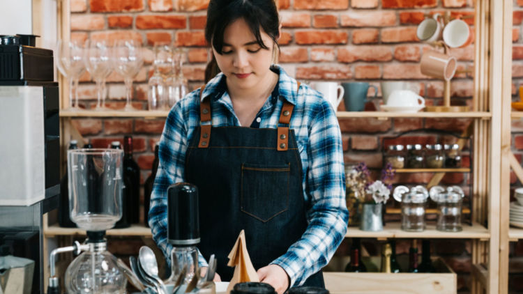
<path fill-rule="evenodd" d="M 47 293 L 59 293 L 54 259 L 63 252 L 81 253 L 66 270 L 67 293 L 125 293 L 126 277 L 104 238 L 122 216 L 123 151 L 76 149 L 67 157 L 70 219 L 86 230 L 87 239 L 52 251 Z"/>

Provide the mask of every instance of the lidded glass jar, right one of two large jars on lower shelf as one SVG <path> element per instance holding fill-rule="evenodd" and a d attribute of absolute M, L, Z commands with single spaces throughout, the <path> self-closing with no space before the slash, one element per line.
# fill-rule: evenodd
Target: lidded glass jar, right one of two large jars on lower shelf
<path fill-rule="evenodd" d="M 459 186 L 430 188 L 430 199 L 438 203 L 438 231 L 462 231 L 461 215 L 464 192 Z"/>

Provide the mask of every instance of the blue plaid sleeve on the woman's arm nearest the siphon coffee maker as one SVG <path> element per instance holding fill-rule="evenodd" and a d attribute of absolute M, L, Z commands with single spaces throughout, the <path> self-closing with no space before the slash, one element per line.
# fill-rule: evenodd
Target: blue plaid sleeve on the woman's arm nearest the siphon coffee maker
<path fill-rule="evenodd" d="M 185 98 L 188 99 L 188 98 Z M 188 100 L 184 101 L 187 102 Z M 167 188 L 174 183 L 184 181 L 185 151 L 188 144 L 187 119 L 184 119 L 181 103 L 176 104 L 169 112 L 158 148 L 158 171 L 151 193 L 149 226 L 153 239 L 162 249 L 170 265 L 172 245 L 167 242 Z M 202 254 L 198 256 L 200 267 L 207 266 Z"/>

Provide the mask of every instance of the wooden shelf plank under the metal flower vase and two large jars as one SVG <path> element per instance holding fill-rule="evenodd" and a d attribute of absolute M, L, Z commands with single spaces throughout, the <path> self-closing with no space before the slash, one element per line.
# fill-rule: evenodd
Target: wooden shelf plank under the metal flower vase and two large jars
<path fill-rule="evenodd" d="M 463 224 L 461 232 L 441 232 L 435 224 L 428 224 L 423 232 L 402 231 L 400 222 L 387 223 L 380 232 L 361 231 L 358 227 L 349 226 L 345 238 L 434 238 L 434 239 L 480 239 L 488 240 L 490 232 L 478 223 Z"/>

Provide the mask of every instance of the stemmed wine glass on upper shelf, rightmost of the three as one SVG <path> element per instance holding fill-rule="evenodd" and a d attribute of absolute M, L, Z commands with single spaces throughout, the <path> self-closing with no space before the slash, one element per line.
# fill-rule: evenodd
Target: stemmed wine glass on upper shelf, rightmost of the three
<path fill-rule="evenodd" d="M 114 47 L 114 66 L 126 83 L 126 107 L 124 111 L 136 110 L 130 100 L 132 95 L 132 79 L 144 64 L 142 46 L 135 40 L 118 40 Z"/>

